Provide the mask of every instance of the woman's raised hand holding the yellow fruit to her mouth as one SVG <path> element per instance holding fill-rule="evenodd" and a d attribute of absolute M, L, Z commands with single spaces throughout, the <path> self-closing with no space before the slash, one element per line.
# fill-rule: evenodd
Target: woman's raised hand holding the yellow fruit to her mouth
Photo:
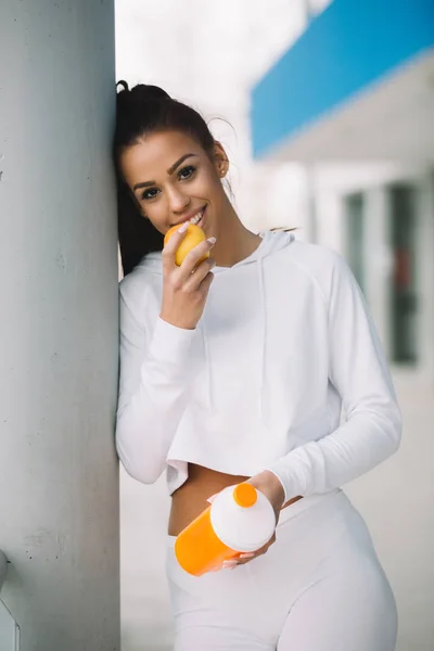
<path fill-rule="evenodd" d="M 187 228 L 182 227 L 163 248 L 163 304 L 159 317 L 177 328 L 194 330 L 205 307 L 215 266 L 210 257 L 201 263 L 199 260 L 213 248 L 216 240 L 208 238 L 196 244 L 178 267 L 175 253 L 187 232 Z"/>

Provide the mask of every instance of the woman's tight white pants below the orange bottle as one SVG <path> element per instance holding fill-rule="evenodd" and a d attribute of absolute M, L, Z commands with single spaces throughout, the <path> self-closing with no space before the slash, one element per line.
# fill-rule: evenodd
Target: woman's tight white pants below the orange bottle
<path fill-rule="evenodd" d="M 235 570 L 184 572 L 169 537 L 175 651 L 393 651 L 395 600 L 341 490 L 284 509 L 277 541 Z"/>

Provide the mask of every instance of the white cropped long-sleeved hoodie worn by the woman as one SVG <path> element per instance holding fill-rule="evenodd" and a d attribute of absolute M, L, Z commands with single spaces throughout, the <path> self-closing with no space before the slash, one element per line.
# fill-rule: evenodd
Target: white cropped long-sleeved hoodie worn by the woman
<path fill-rule="evenodd" d="M 130 475 L 149 484 L 167 469 L 171 494 L 188 462 L 268 469 L 290 499 L 341 487 L 398 448 L 387 365 L 339 254 L 266 232 L 214 272 L 195 330 L 158 316 L 159 253 L 120 283 L 116 443 Z"/>

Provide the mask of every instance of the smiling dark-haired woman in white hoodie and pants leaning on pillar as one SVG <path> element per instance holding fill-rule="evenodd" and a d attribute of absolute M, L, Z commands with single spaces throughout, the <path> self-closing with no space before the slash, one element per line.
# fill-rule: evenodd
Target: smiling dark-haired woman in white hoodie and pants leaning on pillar
<path fill-rule="evenodd" d="M 360 291 L 337 254 L 241 224 L 222 186 L 225 150 L 195 111 L 122 85 L 117 450 L 140 482 L 167 471 L 176 650 L 393 651 L 394 598 L 341 490 L 400 439 Z M 207 239 L 177 267 L 189 221 Z M 273 539 L 188 575 L 175 537 L 242 481 L 273 506 Z"/>

